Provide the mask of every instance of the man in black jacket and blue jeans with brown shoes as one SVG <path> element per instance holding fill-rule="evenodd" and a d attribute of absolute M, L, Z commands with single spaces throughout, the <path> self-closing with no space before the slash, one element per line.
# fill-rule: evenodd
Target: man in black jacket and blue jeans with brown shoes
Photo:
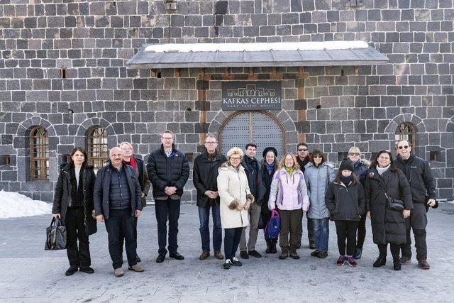
<path fill-rule="evenodd" d="M 214 135 L 207 135 L 205 139 L 206 151 L 194 160 L 194 174 L 192 180 L 197 189 L 197 206 L 199 208 L 201 250 L 200 260 L 205 260 L 210 255 L 210 208 L 213 216 L 213 249 L 214 255 L 219 260 L 224 257 L 221 253 L 222 226 L 221 212 L 219 209 L 218 168 L 227 162 L 227 159 L 216 150 L 218 143 Z"/>

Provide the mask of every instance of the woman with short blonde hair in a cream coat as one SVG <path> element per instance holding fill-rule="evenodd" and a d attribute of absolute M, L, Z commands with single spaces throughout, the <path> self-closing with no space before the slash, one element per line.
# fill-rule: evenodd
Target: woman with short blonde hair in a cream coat
<path fill-rule="evenodd" d="M 248 209 L 254 201 L 250 194 L 248 177 L 240 164 L 243 150 L 232 148 L 227 152 L 227 162 L 219 167 L 218 194 L 221 198 L 221 225 L 224 228 L 224 253 L 226 262 L 223 268 L 241 266 L 235 257 L 240 243 L 241 231 L 248 226 Z"/>

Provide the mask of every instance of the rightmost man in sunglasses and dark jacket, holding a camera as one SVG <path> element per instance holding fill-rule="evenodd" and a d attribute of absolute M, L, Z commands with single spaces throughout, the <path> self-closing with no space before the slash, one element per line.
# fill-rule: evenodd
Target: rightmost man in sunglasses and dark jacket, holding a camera
<path fill-rule="evenodd" d="M 401 140 L 396 145 L 397 158 L 396 165 L 404 172 L 406 179 L 409 180 L 411 197 L 413 199 L 413 211 L 406 219 L 406 243 L 401 245 L 401 263 L 411 262 L 411 233 L 413 228 L 414 241 L 416 247 L 416 260 L 418 265 L 424 270 L 428 270 L 430 265 L 427 263 L 427 244 L 426 226 L 427 209 L 429 206 L 436 208 L 436 190 L 433 182 L 431 167 L 428 162 L 411 153 L 411 146 L 408 141 Z"/>

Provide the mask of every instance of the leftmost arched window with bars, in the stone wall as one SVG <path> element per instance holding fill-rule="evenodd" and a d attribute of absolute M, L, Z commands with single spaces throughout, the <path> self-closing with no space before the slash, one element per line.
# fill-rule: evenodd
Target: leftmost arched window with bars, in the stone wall
<path fill-rule="evenodd" d="M 49 137 L 43 126 L 30 132 L 30 180 L 49 180 Z"/>

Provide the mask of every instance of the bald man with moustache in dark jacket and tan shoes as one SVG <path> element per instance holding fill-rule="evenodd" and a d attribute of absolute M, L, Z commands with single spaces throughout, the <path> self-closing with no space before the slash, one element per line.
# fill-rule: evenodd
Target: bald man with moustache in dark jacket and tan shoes
<path fill-rule="evenodd" d="M 121 231 L 125 238 L 128 270 L 143 272 L 137 264 L 137 242 L 134 237 L 135 217 L 140 216 L 142 190 L 133 168 L 123 165 L 123 150 L 112 148 L 110 161 L 96 175 L 94 184 L 94 210 L 96 220 L 105 222 L 109 234 L 109 253 L 114 266 L 114 275 L 124 275 L 121 270 L 120 237 Z"/>

